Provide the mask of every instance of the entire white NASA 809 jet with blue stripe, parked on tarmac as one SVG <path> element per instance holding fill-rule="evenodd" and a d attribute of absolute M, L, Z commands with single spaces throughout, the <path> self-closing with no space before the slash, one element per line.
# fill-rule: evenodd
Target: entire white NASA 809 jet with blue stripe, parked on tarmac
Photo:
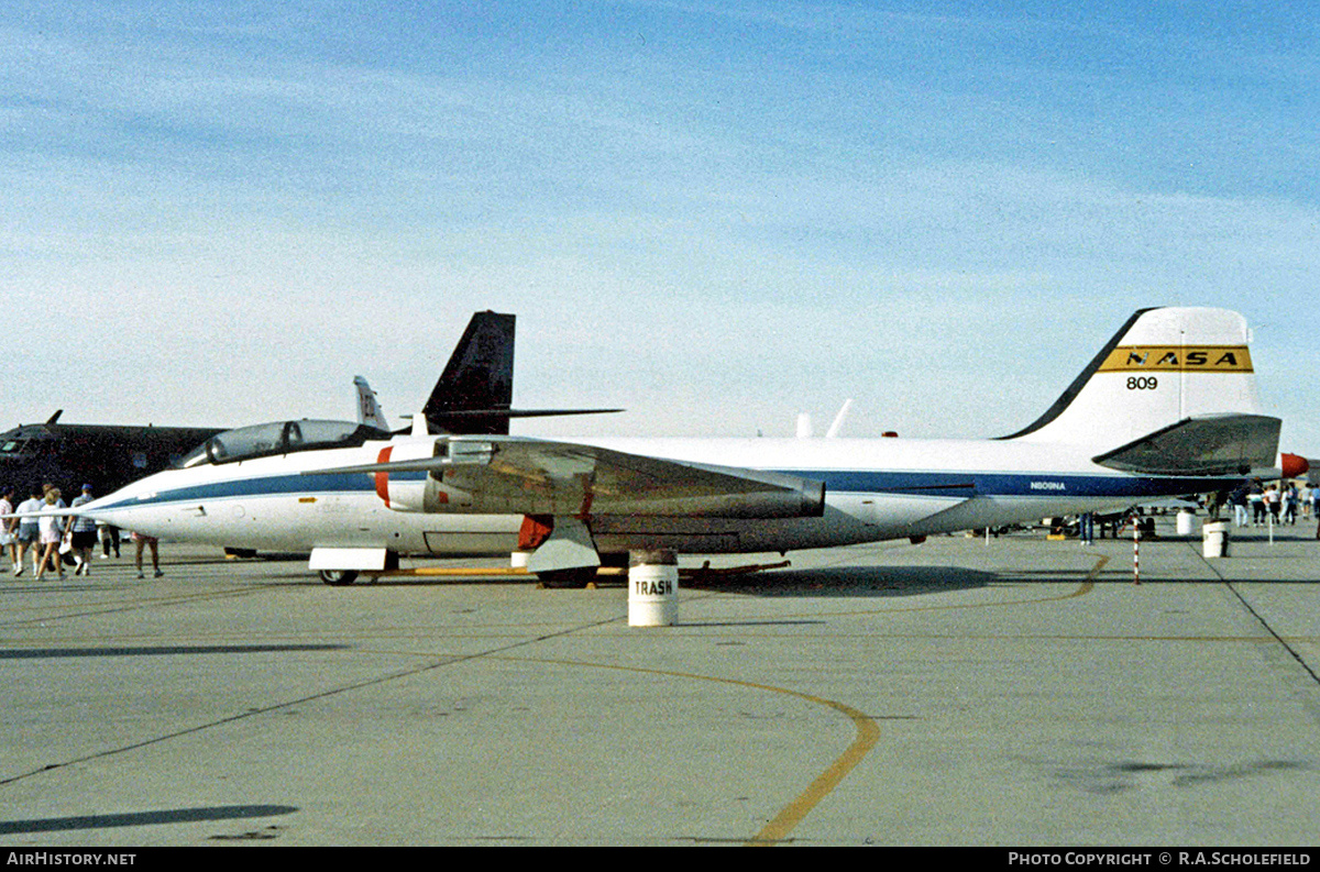
<path fill-rule="evenodd" d="M 1237 313 L 1138 311 L 1057 402 L 998 439 L 384 437 L 354 422 L 222 433 L 81 513 L 176 541 L 310 551 L 327 583 L 397 555 L 789 551 L 1122 509 L 1276 476 Z"/>

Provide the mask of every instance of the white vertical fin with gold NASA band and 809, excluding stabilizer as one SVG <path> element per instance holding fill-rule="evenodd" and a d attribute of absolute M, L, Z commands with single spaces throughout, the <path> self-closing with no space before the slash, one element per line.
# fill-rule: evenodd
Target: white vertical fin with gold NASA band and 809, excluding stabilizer
<path fill-rule="evenodd" d="M 1005 438 L 1107 451 L 1191 418 L 1259 416 L 1249 340 L 1226 309 L 1139 310 L 1044 416 Z"/>

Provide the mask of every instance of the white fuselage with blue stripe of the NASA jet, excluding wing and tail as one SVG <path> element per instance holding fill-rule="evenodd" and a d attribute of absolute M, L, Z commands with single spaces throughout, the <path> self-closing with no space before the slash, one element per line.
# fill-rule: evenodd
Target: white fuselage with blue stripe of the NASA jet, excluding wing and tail
<path fill-rule="evenodd" d="M 1130 475 L 1078 462 L 1076 450 L 949 439 L 577 439 L 638 455 L 785 472 L 825 483 L 813 517 L 590 514 L 602 553 L 785 551 L 927 536 L 1224 488 L 1225 479 Z M 422 512 L 426 474 L 306 475 L 424 451 L 434 437 L 169 470 L 88 509 L 141 533 L 260 550 L 385 547 L 507 554 L 521 514 Z M 434 483 L 433 485 L 434 487 Z"/>

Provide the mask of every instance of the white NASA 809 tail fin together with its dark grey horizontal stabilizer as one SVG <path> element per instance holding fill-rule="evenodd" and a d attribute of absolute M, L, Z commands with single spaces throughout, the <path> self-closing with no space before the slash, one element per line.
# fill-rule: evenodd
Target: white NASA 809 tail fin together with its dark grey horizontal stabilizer
<path fill-rule="evenodd" d="M 1002 438 L 1076 445 L 1134 470 L 1269 467 L 1278 420 L 1261 414 L 1249 342 L 1236 311 L 1143 309 L 1045 414 Z"/>

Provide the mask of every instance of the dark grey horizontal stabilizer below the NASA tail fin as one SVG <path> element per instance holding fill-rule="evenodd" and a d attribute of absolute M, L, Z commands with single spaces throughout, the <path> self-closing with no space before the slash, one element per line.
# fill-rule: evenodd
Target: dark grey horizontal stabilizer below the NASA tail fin
<path fill-rule="evenodd" d="M 1143 475 L 1247 476 L 1274 466 L 1282 423 L 1263 414 L 1187 418 L 1093 459 Z"/>

